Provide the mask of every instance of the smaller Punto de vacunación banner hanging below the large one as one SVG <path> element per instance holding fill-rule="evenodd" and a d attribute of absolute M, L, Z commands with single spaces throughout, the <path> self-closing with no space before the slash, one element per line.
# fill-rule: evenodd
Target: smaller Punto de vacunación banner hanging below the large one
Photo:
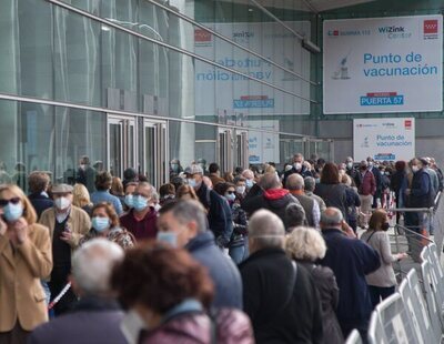
<path fill-rule="evenodd" d="M 353 158 L 408 161 L 415 156 L 415 119 L 353 120 Z"/>

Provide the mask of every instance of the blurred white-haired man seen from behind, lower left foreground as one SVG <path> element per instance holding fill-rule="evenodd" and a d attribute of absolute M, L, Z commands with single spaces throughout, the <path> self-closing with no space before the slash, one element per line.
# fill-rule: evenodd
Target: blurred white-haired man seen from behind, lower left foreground
<path fill-rule="evenodd" d="M 29 344 L 125 343 L 120 331 L 123 312 L 112 297 L 109 277 L 123 250 L 104 239 L 87 242 L 72 256 L 71 284 L 80 297 L 65 316 L 37 327 Z"/>

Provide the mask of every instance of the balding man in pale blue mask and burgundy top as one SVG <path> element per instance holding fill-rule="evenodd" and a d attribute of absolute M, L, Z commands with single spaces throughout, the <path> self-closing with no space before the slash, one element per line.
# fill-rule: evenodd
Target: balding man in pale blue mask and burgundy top
<path fill-rule="evenodd" d="M 154 239 L 158 234 L 158 212 L 150 206 L 153 188 L 148 182 L 140 182 L 132 194 L 133 208 L 120 217 L 122 226 L 128 229 L 137 241 Z"/>

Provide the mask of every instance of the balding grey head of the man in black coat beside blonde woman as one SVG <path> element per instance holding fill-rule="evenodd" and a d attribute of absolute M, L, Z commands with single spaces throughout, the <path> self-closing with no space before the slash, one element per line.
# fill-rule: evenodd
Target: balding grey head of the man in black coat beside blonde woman
<path fill-rule="evenodd" d="M 250 251 L 283 249 L 285 227 L 282 220 L 269 210 L 256 211 L 249 223 Z"/>

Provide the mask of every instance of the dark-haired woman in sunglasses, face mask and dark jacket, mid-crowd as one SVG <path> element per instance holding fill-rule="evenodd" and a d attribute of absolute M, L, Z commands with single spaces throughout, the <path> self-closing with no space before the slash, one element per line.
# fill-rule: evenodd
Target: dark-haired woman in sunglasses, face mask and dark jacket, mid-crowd
<path fill-rule="evenodd" d="M 240 264 L 248 255 L 246 250 L 246 214 L 236 202 L 235 186 L 232 183 L 219 183 L 214 191 L 224 196 L 231 208 L 231 216 L 233 219 L 233 234 L 231 234 L 228 244 L 229 255 L 234 263 Z"/>

